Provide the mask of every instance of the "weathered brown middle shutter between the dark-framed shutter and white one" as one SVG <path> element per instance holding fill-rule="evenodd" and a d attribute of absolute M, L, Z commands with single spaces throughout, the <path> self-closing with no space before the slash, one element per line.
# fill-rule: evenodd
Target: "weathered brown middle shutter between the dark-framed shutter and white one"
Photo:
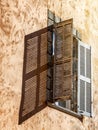
<path fill-rule="evenodd" d="M 55 24 L 54 99 L 70 99 L 72 87 L 72 19 Z"/>

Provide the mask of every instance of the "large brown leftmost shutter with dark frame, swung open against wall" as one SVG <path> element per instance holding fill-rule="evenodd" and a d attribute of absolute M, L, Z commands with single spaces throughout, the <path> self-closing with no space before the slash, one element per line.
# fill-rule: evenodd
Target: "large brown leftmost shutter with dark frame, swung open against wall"
<path fill-rule="evenodd" d="M 47 28 L 25 36 L 19 124 L 46 106 Z"/>

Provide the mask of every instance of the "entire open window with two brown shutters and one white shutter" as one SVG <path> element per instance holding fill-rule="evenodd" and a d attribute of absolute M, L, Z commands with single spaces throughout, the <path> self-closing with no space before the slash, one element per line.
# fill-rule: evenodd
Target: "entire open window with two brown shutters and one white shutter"
<path fill-rule="evenodd" d="M 47 105 L 92 116 L 91 47 L 72 30 L 69 19 L 25 36 L 19 124 Z"/>

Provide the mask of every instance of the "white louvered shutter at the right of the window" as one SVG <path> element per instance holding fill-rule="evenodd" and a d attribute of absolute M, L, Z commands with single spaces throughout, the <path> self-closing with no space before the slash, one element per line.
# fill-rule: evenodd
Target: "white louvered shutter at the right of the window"
<path fill-rule="evenodd" d="M 91 116 L 91 47 L 78 42 L 78 112 Z"/>

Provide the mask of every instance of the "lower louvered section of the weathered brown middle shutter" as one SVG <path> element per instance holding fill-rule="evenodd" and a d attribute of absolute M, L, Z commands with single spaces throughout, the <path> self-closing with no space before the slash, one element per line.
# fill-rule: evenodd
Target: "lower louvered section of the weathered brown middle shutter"
<path fill-rule="evenodd" d="M 58 64 L 55 67 L 55 98 L 71 98 L 71 65 Z"/>

